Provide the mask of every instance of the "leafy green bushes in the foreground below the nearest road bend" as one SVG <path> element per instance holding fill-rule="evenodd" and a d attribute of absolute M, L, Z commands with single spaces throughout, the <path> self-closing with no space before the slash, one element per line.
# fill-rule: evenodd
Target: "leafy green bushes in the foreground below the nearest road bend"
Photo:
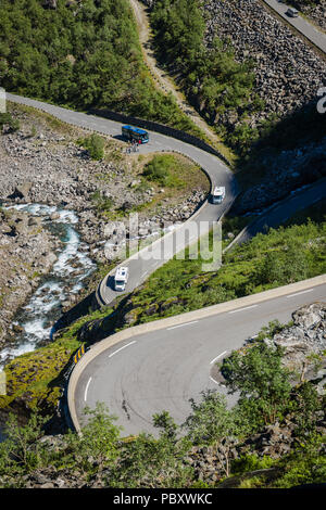
<path fill-rule="evenodd" d="M 67 486 L 77 480 L 84 487 L 100 483 L 121 488 L 212 488 L 227 483 L 228 487 L 288 488 L 323 483 L 325 437 L 318 421 L 325 397 L 310 382 L 291 387 L 281 356 L 280 348 L 263 343 L 241 355 L 233 353 L 226 386 L 239 392 L 238 404 L 229 409 L 223 395 L 204 393 L 200 401 L 191 400 L 191 412 L 181 425 L 167 411 L 154 415 L 158 437 L 140 433 L 122 439 L 115 417 L 98 404 L 96 409 L 85 409 L 88 422 L 83 435 L 67 431 L 53 447 L 45 435 L 46 416 L 32 413 L 22 425 L 11 415 L 7 439 L 0 444 L 0 484 L 24 487 L 28 481 L 33 485 L 34 473 L 45 473 L 43 479 L 50 476 L 52 483 L 66 480 Z M 292 424 L 290 451 L 274 458 L 250 448 L 246 439 L 264 437 L 264 426 L 273 426 L 276 419 L 277 426 Z M 195 468 L 203 447 L 216 456 L 214 481 L 202 479 Z"/>

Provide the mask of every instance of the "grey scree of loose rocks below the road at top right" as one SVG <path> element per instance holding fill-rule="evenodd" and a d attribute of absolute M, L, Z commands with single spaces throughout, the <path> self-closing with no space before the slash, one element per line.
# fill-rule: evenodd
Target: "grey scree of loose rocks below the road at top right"
<path fill-rule="evenodd" d="M 253 115 L 251 125 L 271 113 L 283 117 L 316 100 L 325 85 L 326 63 L 260 1 L 209 0 L 204 10 L 206 43 L 217 36 L 230 42 L 238 62 L 253 62 L 254 89 L 265 106 Z M 237 120 L 233 116 L 230 122 Z"/>

